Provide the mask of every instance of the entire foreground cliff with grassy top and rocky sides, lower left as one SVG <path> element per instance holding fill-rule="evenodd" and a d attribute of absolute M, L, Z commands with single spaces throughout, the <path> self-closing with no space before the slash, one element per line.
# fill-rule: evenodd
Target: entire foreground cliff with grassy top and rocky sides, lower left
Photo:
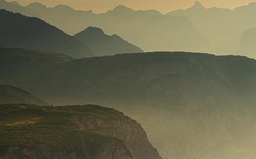
<path fill-rule="evenodd" d="M 140 124 L 100 106 L 0 105 L 0 159 L 161 159 Z"/>

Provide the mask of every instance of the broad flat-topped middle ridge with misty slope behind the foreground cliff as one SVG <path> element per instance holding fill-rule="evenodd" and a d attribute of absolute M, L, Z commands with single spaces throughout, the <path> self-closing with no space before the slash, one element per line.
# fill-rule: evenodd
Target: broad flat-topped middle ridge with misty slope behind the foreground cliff
<path fill-rule="evenodd" d="M 1 84 L 55 105 L 122 110 L 142 124 L 163 158 L 256 157 L 254 59 L 158 52 L 56 63 L 7 50 L 0 51 Z"/>

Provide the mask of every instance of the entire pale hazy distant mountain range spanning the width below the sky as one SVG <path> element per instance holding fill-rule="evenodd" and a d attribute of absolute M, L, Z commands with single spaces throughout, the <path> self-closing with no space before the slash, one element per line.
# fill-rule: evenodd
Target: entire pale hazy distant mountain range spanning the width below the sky
<path fill-rule="evenodd" d="M 121 36 L 145 51 L 239 53 L 255 58 L 254 53 L 239 50 L 243 33 L 256 28 L 256 3 L 229 10 L 205 8 L 196 2 L 190 8 L 166 15 L 155 10 L 135 11 L 125 6 L 117 6 L 102 14 L 77 11 L 64 5 L 51 8 L 40 3 L 23 7 L 1 1 L 0 8 L 36 16 L 70 35 L 90 26 L 99 27 L 108 35 Z"/>

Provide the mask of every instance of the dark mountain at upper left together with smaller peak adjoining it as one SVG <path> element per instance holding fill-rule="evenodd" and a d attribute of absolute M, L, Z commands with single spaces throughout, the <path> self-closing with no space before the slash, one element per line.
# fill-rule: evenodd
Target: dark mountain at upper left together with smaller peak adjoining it
<path fill-rule="evenodd" d="M 43 20 L 6 10 L 0 10 L 0 20 L 2 48 L 51 51 L 74 58 L 143 52 L 117 35 L 105 35 L 100 28 L 86 28 L 73 37 Z"/>

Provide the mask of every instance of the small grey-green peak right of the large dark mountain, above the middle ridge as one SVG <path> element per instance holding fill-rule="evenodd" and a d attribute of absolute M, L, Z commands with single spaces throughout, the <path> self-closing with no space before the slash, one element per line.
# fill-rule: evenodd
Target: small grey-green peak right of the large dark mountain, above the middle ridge
<path fill-rule="evenodd" d="M 100 28 L 88 27 L 77 33 L 76 37 L 84 42 L 94 55 L 114 55 L 117 53 L 143 53 L 143 50 L 123 40 L 117 35 L 108 36 Z"/>

